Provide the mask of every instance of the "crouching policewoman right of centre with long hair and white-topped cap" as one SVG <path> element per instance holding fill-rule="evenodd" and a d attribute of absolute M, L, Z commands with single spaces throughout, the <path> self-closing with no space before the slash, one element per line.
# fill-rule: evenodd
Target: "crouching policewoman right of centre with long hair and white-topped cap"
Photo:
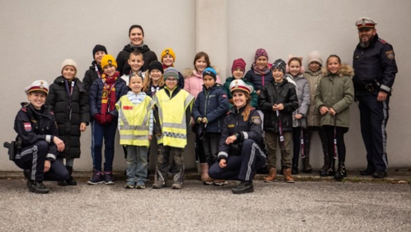
<path fill-rule="evenodd" d="M 266 155 L 261 118 L 251 107 L 250 93 L 253 87 L 242 80 L 230 84 L 234 107 L 230 109 L 222 125 L 217 162 L 210 170 L 213 179 L 239 180 L 232 189 L 234 194 L 254 191 L 253 178 L 256 169 L 264 166 Z"/>

